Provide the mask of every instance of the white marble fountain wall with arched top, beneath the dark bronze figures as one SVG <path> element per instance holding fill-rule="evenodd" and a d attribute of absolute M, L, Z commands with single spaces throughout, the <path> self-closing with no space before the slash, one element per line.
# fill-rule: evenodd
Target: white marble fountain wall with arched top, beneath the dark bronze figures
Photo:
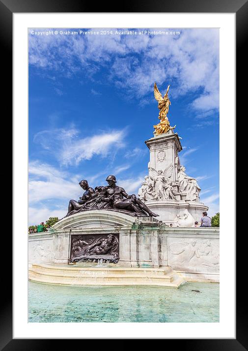
<path fill-rule="evenodd" d="M 29 234 L 30 264 L 49 264 L 58 269 L 65 267 L 71 261 L 76 240 L 89 248 L 87 252 L 94 256 L 96 265 L 95 257 L 98 256 L 111 269 L 165 270 L 169 267 L 181 277 L 185 275 L 186 280 L 189 277 L 198 281 L 199 277 L 199 281 L 219 281 L 219 228 L 169 227 L 155 218 L 95 210 L 64 218 L 49 230 Z M 92 250 L 100 248 L 109 236 L 115 240 L 116 264 L 108 263 L 109 252 L 104 256 L 102 252 Z M 80 252 L 80 246 L 78 249 L 76 245 L 76 250 Z M 77 265 L 82 266 L 76 263 L 73 268 Z M 109 269 L 99 267 L 104 268 Z"/>

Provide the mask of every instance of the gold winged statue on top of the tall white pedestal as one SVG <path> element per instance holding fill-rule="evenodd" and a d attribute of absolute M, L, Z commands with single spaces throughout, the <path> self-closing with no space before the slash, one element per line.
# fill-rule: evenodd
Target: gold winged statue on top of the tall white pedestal
<path fill-rule="evenodd" d="M 167 113 L 169 111 L 169 105 L 171 105 L 169 97 L 168 97 L 168 91 L 169 91 L 169 85 L 167 87 L 166 93 L 164 98 L 162 97 L 157 84 L 154 83 L 154 98 L 158 101 L 158 108 L 159 108 L 159 119 L 160 123 L 158 125 L 154 125 L 153 127 L 155 128 L 154 134 L 159 135 L 159 134 L 164 134 L 167 133 L 169 129 L 174 129 L 176 125 L 171 127 L 169 125 L 169 120 L 167 117 Z"/>

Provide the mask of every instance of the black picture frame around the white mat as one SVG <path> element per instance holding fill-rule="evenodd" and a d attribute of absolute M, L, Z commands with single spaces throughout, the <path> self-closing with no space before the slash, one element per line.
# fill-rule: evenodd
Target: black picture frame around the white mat
<path fill-rule="evenodd" d="M 97 10 L 96 10 L 97 7 Z M 248 1 L 247 0 L 143 0 L 133 2 L 117 2 L 113 5 L 110 2 L 102 2 L 96 4 L 91 1 L 79 0 L 0 0 L 0 45 L 2 55 L 2 66 L 6 75 L 5 89 L 2 91 L 1 98 L 4 101 L 5 120 L 9 123 L 9 129 L 12 129 L 11 113 L 12 109 L 12 18 L 13 13 L 38 13 L 38 12 L 164 12 L 164 13 L 236 13 L 236 83 L 237 83 L 237 116 L 242 116 L 242 107 L 246 103 L 246 90 L 242 89 L 246 86 L 247 80 L 247 54 L 245 54 L 245 44 L 248 32 Z M 233 98 L 233 97 L 232 97 Z M 227 100 L 228 103 L 228 100 Z M 244 111 L 245 108 L 244 108 Z M 8 118 L 6 118 L 8 116 Z M 245 116 L 246 117 L 246 116 Z M 234 130 L 235 130 L 235 126 Z M 240 138 L 241 139 L 241 138 Z M 237 138 L 237 147 L 239 138 Z M 9 146 L 11 149 L 11 146 Z M 8 150 L 9 150 L 8 148 Z M 235 216 L 235 214 L 233 214 Z M 243 231 L 245 230 L 245 227 Z M 238 233 L 242 234 L 242 233 Z M 5 247 L 10 247 L 10 233 L 8 237 L 3 235 L 3 244 Z M 244 276 L 242 276 L 243 265 L 242 257 L 246 257 L 246 246 L 243 242 L 244 236 L 237 235 L 236 248 L 236 339 L 177 339 L 176 346 L 182 345 L 185 350 L 248 350 L 247 337 L 247 301 L 242 296 L 244 291 Z M 4 243 L 5 240 L 5 243 Z M 57 340 L 51 339 L 12 339 L 12 278 L 9 276 L 11 272 L 11 262 L 8 260 L 8 271 L 5 276 L 3 272 L 2 279 L 4 280 L 4 299 L 1 301 L 1 323 L 0 323 L 0 350 L 44 350 L 47 344 L 58 347 Z M 79 336 L 80 337 L 80 336 Z M 196 336 L 197 337 L 197 336 Z M 167 340 L 169 341 L 169 340 Z M 55 345 L 56 343 L 56 345 Z M 178 344 L 179 343 L 179 344 Z M 66 347 L 67 340 L 63 340 L 63 347 Z M 166 344 L 167 345 L 167 344 Z M 69 344 L 68 344 L 69 346 Z"/>

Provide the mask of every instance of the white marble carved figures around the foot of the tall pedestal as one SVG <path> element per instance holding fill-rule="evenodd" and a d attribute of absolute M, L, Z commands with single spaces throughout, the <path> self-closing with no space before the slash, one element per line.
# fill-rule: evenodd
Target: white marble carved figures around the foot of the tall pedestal
<path fill-rule="evenodd" d="M 174 195 L 176 192 L 177 194 L 186 194 L 185 201 L 198 201 L 201 189 L 197 184 L 196 179 L 187 176 L 185 173 L 185 167 L 181 166 L 177 174 L 178 181 L 172 186 L 172 181 L 170 179 L 172 171 L 172 165 L 167 167 L 164 171 L 157 171 L 150 167 L 150 175 L 145 176 L 141 188 L 138 190 L 140 200 L 177 200 Z"/>

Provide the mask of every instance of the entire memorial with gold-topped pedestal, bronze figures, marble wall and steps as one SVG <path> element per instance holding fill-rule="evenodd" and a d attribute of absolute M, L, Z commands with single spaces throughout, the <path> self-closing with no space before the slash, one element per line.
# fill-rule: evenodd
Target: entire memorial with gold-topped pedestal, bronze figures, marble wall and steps
<path fill-rule="evenodd" d="M 186 280 L 219 281 L 219 228 L 193 226 L 208 207 L 180 164 L 180 137 L 167 117 L 168 90 L 162 97 L 154 85 L 160 123 L 145 142 L 150 161 L 138 197 L 113 175 L 94 189 L 81 180 L 83 196 L 69 201 L 65 217 L 48 232 L 29 235 L 30 280 L 176 288 Z"/>

